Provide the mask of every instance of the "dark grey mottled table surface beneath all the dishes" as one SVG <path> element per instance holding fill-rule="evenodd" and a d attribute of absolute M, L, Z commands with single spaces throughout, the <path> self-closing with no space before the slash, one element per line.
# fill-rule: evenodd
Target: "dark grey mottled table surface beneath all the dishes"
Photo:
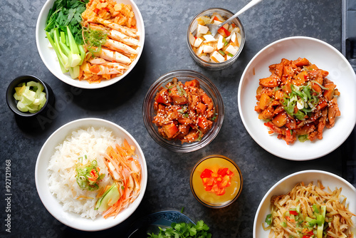
<path fill-rule="evenodd" d="M 246 45 L 239 59 L 224 71 L 206 71 L 194 63 L 187 49 L 190 19 L 209 7 L 230 11 L 249 0 L 135 1 L 145 21 L 145 47 L 137 66 L 122 81 L 98 90 L 78 90 L 48 71 L 36 48 L 35 29 L 45 0 L 1 0 L 0 5 L 0 174 L 1 237 L 125 237 L 127 227 L 140 217 L 164 210 L 180 211 L 197 222 L 203 219 L 213 237 L 252 237 L 253 219 L 265 193 L 283 177 L 300 170 L 325 170 L 356 185 L 355 128 L 340 148 L 315 160 L 283 160 L 263 150 L 241 122 L 237 91 L 248 62 L 264 46 L 288 36 L 310 36 L 341 49 L 341 1 L 264 0 L 241 15 Z M 219 88 L 225 118 L 219 135 L 206 148 L 188 154 L 161 148 L 148 135 L 142 120 L 142 102 L 148 88 L 162 74 L 178 69 L 203 73 Z M 16 121 L 7 108 L 9 82 L 24 74 L 42 78 L 62 103 L 45 129 L 32 130 Z M 355 110 L 356 108 L 352 108 Z M 46 139 L 78 118 L 103 118 L 125 128 L 140 144 L 147 160 L 148 183 L 137 210 L 122 224 L 103 232 L 80 232 L 58 222 L 43 206 L 35 185 L 38 152 Z M 239 199 L 224 209 L 209 209 L 197 202 L 189 188 L 189 173 L 201 157 L 221 154 L 241 168 L 244 187 Z M 11 233 L 6 232 L 5 160 L 11 160 Z"/>

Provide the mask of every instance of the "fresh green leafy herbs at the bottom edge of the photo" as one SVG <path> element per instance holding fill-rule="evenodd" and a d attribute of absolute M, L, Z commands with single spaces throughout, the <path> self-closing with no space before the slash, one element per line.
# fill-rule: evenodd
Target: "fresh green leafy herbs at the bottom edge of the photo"
<path fill-rule="evenodd" d="M 158 234 L 148 234 L 151 238 L 163 238 L 163 237 L 174 237 L 174 238 L 211 238 L 211 233 L 209 232 L 209 227 L 200 220 L 196 225 L 192 223 L 175 223 L 171 224 L 171 227 L 167 229 L 162 229 L 159 227 Z"/>

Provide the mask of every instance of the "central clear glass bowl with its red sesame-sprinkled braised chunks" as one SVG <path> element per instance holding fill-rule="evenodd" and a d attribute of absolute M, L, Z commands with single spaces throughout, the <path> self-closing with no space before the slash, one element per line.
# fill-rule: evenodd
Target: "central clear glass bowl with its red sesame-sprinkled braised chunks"
<path fill-rule="evenodd" d="M 209 78 L 195 71 L 172 71 L 148 90 L 142 106 L 150 136 L 163 148 L 192 152 L 219 133 L 224 103 Z"/>

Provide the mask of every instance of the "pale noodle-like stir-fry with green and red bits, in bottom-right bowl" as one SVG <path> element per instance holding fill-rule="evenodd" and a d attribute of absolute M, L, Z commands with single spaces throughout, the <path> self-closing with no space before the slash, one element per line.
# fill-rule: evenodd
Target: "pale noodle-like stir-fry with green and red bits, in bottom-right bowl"
<path fill-rule="evenodd" d="M 268 237 L 300 238 L 351 238 L 352 216 L 355 216 L 341 195 L 341 188 L 324 191 L 323 184 L 303 182 L 295 185 L 286 195 L 271 198 L 271 214 L 266 217 L 265 227 L 271 229 Z"/>

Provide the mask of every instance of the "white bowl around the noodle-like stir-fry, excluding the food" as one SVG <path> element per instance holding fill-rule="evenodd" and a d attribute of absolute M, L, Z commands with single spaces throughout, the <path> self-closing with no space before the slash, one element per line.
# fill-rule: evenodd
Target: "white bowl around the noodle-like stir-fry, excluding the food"
<path fill-rule="evenodd" d="M 347 203 L 350 206 L 349 210 L 356 211 L 356 189 L 350 182 L 347 182 L 342 177 L 334 175 L 330 172 L 320 171 L 320 170 L 304 170 L 300 172 L 295 172 L 292 175 L 284 177 L 282 180 L 273 185 L 270 190 L 263 197 L 260 205 L 258 206 L 255 220 L 253 222 L 253 238 L 267 238 L 269 230 L 263 230 L 262 223 L 266 219 L 267 214 L 271 213 L 271 197 L 273 195 L 284 195 L 298 182 L 304 182 L 308 185 L 313 182 L 314 185 L 318 184 L 318 180 L 323 183 L 325 190 L 335 190 L 335 188 L 342 187 L 341 194 L 347 197 Z M 352 217 L 352 221 L 355 224 L 356 217 Z"/>

